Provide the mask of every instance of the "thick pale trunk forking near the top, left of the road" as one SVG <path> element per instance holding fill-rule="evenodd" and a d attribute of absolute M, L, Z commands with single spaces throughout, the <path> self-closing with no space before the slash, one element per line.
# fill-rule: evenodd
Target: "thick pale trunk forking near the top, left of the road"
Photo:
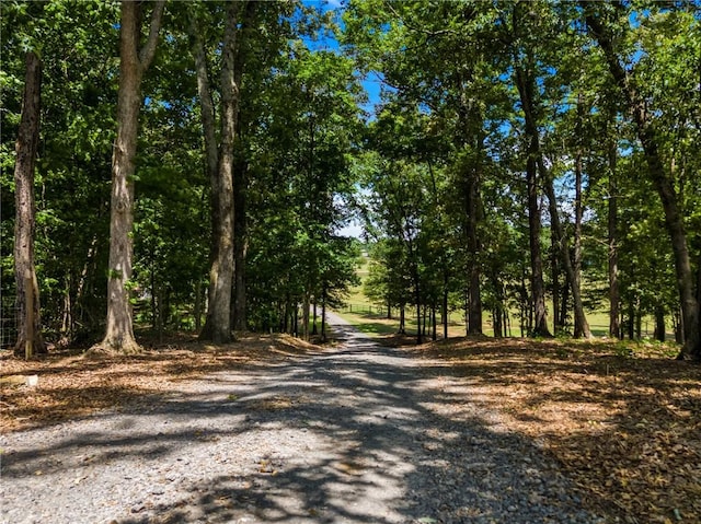
<path fill-rule="evenodd" d="M 117 137 L 112 156 L 107 325 L 105 337 L 100 347 L 124 353 L 139 350 L 134 338 L 128 289 L 131 278 L 133 253 L 134 160 L 141 107 L 141 79 L 156 54 L 163 5 L 164 1 L 159 1 L 153 5 L 148 40 L 139 50 L 141 3 L 122 2 Z"/>

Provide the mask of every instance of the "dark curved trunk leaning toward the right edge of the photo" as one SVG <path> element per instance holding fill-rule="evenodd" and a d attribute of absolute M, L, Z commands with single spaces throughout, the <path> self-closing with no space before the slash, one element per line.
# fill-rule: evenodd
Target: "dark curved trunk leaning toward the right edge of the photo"
<path fill-rule="evenodd" d="M 585 10 L 588 10 L 586 4 Z M 683 318 L 685 343 L 679 358 L 701 360 L 701 312 L 699 311 L 699 300 L 694 292 L 694 276 L 691 270 L 687 234 L 674 182 L 665 171 L 659 158 L 657 138 L 651 121 L 653 116 L 647 112 L 645 101 L 637 93 L 634 84 L 630 81 L 628 72 L 621 65 L 616 54 L 613 38 L 609 28 L 605 27 L 599 19 L 591 15 L 586 18 L 586 22 L 602 49 L 609 71 L 623 93 L 628 108 L 633 115 L 637 139 L 645 153 L 650 178 L 657 189 L 665 210 L 665 225 L 671 240 L 679 302 Z"/>

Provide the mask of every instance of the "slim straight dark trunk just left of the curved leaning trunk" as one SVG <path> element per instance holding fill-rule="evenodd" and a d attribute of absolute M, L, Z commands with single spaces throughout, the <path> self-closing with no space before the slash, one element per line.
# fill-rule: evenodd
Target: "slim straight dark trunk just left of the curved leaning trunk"
<path fill-rule="evenodd" d="M 618 185 L 616 164 L 618 160 L 617 143 L 613 136 L 609 138 L 609 201 L 608 201 L 608 272 L 609 272 L 609 336 L 620 338 L 620 290 L 618 283 Z"/>

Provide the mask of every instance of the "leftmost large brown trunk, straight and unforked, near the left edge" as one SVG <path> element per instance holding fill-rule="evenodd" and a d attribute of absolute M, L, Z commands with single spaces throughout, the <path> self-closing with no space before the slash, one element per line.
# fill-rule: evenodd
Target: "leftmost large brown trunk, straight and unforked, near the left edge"
<path fill-rule="evenodd" d="M 42 62 L 34 51 L 25 56 L 22 119 L 15 143 L 14 164 L 14 278 L 16 282 L 16 356 L 46 353 L 42 337 L 39 290 L 34 268 L 34 165 L 39 142 Z M 32 311 L 30 311 L 30 308 Z M 27 322 L 28 321 L 28 322 Z M 31 325 L 30 325 L 31 323 Z"/>

